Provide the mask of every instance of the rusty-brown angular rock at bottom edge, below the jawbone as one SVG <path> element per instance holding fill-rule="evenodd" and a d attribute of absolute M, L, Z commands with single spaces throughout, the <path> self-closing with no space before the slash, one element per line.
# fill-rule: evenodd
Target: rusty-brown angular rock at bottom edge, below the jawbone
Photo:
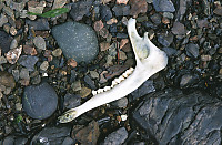
<path fill-rule="evenodd" d="M 72 138 L 79 141 L 82 145 L 97 145 L 100 135 L 98 122 L 92 121 L 87 127 L 81 127 L 73 126 Z"/>

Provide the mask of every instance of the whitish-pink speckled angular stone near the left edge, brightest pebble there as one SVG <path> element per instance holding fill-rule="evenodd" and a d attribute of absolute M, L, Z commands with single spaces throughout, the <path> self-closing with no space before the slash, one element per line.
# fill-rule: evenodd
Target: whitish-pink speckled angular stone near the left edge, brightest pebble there
<path fill-rule="evenodd" d="M 22 51 L 22 45 L 20 45 L 17 49 L 10 50 L 6 56 L 9 63 L 14 64 L 17 62 L 17 60 L 19 59 L 19 56 L 21 55 L 21 51 Z"/>

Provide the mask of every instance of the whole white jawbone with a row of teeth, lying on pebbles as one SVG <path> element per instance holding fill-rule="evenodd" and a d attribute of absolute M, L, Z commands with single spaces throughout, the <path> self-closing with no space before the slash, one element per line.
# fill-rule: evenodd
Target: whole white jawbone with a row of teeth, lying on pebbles
<path fill-rule="evenodd" d="M 135 69 L 130 68 L 121 76 L 112 81 L 111 86 L 92 91 L 93 96 L 84 104 L 67 111 L 59 116 L 60 123 L 71 122 L 81 114 L 100 105 L 119 100 L 134 90 L 168 64 L 167 54 L 158 49 L 149 39 L 148 33 L 141 38 L 135 29 L 135 19 L 128 21 L 128 34 L 135 55 Z"/>

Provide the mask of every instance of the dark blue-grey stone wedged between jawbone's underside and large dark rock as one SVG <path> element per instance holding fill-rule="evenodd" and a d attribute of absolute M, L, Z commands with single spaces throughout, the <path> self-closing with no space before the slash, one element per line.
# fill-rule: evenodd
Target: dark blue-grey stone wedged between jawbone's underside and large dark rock
<path fill-rule="evenodd" d="M 141 97 L 145 94 L 149 94 L 151 92 L 154 92 L 155 89 L 153 86 L 153 81 L 152 80 L 148 80 L 145 81 L 139 89 L 137 89 L 135 91 L 133 91 L 131 93 L 133 100 Z"/>

